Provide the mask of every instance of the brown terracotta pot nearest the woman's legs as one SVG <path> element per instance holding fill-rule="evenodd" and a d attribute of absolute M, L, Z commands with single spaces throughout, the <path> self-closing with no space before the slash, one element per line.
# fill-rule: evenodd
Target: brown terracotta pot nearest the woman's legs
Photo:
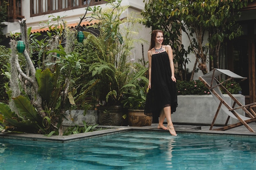
<path fill-rule="evenodd" d="M 151 126 L 152 116 L 144 115 L 144 110 L 128 110 L 129 126 Z"/>

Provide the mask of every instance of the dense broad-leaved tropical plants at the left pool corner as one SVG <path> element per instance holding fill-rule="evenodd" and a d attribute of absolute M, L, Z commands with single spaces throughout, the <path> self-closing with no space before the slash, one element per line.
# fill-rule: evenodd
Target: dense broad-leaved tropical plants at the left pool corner
<path fill-rule="evenodd" d="M 60 19 L 56 17 L 54 21 Z M 52 27 L 49 23 L 47 23 L 48 26 Z M 59 22 L 57 23 L 59 25 Z M 33 70 L 35 75 L 31 73 L 31 75 L 28 74 L 29 77 L 21 73 L 22 78 L 17 79 L 18 86 L 16 86 L 20 88 L 20 94 L 10 98 L 9 106 L 0 104 L 2 124 L 7 128 L 11 127 L 12 130 L 22 132 L 62 135 L 61 126 L 65 111 L 75 106 L 76 102 L 83 101 L 90 89 L 98 82 L 98 80 L 92 80 L 86 85 L 85 82 L 76 83 L 83 74 L 81 63 L 85 63 L 85 60 L 80 57 L 79 53 L 66 52 L 68 50 L 65 48 L 72 48 L 74 41 L 70 42 L 73 44 L 66 43 L 65 48 L 60 45 L 59 37 L 63 32 L 62 26 L 55 26 L 52 29 L 54 35 L 47 33 L 47 38 L 42 41 L 36 40 L 38 34 L 29 36 L 31 53 L 30 56 L 24 53 L 24 57 L 32 58 L 36 55 L 37 60 L 34 62 L 37 66 L 28 64 L 30 70 L 35 69 Z M 28 29 L 29 33 L 30 31 L 31 29 Z M 66 29 L 65 33 L 70 32 Z M 12 46 L 12 49 L 11 55 L 16 56 L 15 47 Z M 17 66 L 16 61 L 11 62 L 15 63 L 12 66 Z M 7 70 L 4 71 L 9 78 L 13 76 L 13 73 L 18 75 L 18 72 L 15 72 L 16 68 L 10 72 L 11 75 L 10 70 L 7 66 Z M 25 69 L 20 67 L 20 70 L 19 73 Z M 77 93 L 77 88 L 80 86 L 83 91 Z M 5 84 L 5 87 L 11 97 L 13 89 L 8 84 Z"/>

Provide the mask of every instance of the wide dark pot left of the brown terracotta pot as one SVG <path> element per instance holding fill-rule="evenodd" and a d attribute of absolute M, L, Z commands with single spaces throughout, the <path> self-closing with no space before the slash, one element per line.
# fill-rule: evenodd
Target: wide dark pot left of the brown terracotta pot
<path fill-rule="evenodd" d="M 127 126 L 127 111 L 122 106 L 101 106 L 99 110 L 99 125 Z"/>

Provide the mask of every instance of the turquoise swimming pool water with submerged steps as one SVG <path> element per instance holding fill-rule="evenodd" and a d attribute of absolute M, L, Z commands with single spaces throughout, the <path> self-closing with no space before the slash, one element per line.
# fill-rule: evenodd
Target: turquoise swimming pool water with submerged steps
<path fill-rule="evenodd" d="M 69 143 L 0 138 L 0 170 L 255 170 L 256 139 L 124 132 Z"/>

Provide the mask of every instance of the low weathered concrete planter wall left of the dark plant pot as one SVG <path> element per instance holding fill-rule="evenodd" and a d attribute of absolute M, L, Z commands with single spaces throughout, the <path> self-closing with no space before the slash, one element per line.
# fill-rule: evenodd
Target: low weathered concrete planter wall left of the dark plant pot
<path fill-rule="evenodd" d="M 67 118 L 63 120 L 64 126 L 72 126 L 75 124 L 83 124 L 83 120 L 87 125 L 98 124 L 98 110 L 87 110 L 83 115 L 84 110 L 67 110 L 65 116 Z"/>

